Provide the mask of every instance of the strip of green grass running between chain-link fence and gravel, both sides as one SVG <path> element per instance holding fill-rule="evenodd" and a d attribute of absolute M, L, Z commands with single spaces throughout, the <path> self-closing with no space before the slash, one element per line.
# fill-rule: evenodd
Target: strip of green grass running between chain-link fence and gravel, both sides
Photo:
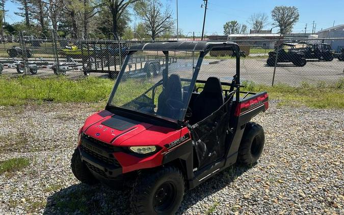
<path fill-rule="evenodd" d="M 274 87 L 243 83 L 243 91 L 268 91 L 270 99 L 278 99 L 279 105 L 309 106 L 315 108 L 344 109 L 344 78 L 334 84 L 319 82 L 299 87 L 277 84 Z M 28 103 L 81 102 L 103 106 L 113 88 L 114 80 L 88 77 L 71 80 L 67 77 L 18 77 L 0 76 L 0 105 L 21 105 Z M 149 80 L 129 79 L 120 86 L 116 104 L 123 104 L 142 94 L 152 86 Z M 156 98 L 155 98 L 156 99 Z"/>

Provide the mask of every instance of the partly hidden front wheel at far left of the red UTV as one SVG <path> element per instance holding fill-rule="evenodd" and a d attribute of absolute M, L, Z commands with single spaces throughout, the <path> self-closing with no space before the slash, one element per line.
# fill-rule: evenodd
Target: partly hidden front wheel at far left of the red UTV
<path fill-rule="evenodd" d="M 79 149 L 75 149 L 72 155 L 70 167 L 72 172 L 77 180 L 80 180 L 82 183 L 93 185 L 98 183 L 97 179 L 94 178 L 90 170 L 87 168 L 81 160 Z"/>

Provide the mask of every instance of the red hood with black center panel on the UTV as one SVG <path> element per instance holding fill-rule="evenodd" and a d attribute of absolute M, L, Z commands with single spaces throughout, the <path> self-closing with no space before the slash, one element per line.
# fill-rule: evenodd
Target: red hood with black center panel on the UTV
<path fill-rule="evenodd" d="M 175 129 L 132 120 L 109 111 L 90 116 L 83 132 L 99 141 L 117 146 L 163 144 L 167 137 L 180 135 L 180 131 Z"/>

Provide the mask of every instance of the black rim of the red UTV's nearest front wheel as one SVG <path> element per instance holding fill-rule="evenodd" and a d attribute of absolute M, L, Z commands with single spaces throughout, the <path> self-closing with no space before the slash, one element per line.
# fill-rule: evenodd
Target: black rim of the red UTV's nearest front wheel
<path fill-rule="evenodd" d="M 153 196 L 153 207 L 158 213 L 164 213 L 174 204 L 176 187 L 172 182 L 165 182 L 158 187 Z"/>

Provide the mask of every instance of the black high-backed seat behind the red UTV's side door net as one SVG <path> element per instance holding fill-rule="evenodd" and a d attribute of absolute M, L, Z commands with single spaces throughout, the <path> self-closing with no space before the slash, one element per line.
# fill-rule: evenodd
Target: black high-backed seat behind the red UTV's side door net
<path fill-rule="evenodd" d="M 224 104 L 221 82 L 218 77 L 209 77 L 203 91 L 197 96 L 192 105 L 191 124 L 197 123 L 214 113 Z"/>

